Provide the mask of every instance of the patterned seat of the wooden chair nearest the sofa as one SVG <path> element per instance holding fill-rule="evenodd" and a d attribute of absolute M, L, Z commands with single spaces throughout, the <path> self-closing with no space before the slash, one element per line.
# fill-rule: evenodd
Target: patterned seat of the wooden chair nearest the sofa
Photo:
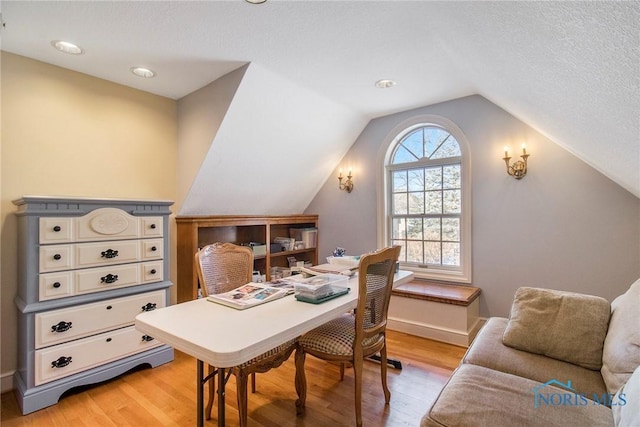
<path fill-rule="evenodd" d="M 363 346 L 366 348 L 373 345 L 381 337 L 381 334 L 378 334 L 366 338 L 363 341 Z M 305 351 L 310 350 L 336 356 L 351 356 L 355 338 L 355 317 L 351 314 L 344 314 L 307 332 L 300 337 L 298 343 Z"/>

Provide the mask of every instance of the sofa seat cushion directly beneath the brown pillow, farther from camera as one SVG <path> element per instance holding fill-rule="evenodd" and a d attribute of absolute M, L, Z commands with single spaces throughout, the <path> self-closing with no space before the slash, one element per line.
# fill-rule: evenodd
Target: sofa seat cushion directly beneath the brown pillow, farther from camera
<path fill-rule="evenodd" d="M 488 319 L 467 350 L 462 362 L 518 375 L 541 383 L 551 379 L 563 382 L 570 380 L 575 390 L 587 396 L 593 396 L 594 393 L 602 396 L 603 393 L 607 393 L 607 387 L 602 380 L 600 371 L 593 371 L 562 360 L 504 345 L 502 334 L 507 327 L 507 322 L 508 319 L 503 317 Z"/>

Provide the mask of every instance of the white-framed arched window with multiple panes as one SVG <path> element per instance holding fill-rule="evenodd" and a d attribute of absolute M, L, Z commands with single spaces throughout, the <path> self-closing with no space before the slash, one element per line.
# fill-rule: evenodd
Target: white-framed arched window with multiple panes
<path fill-rule="evenodd" d="M 457 129 L 456 129 L 457 130 Z M 386 244 L 418 277 L 471 280 L 470 185 L 462 133 L 419 123 L 399 132 L 385 164 Z"/>

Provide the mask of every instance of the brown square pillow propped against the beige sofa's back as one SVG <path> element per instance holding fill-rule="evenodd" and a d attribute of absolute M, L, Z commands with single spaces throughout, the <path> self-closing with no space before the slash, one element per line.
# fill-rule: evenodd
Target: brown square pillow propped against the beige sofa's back
<path fill-rule="evenodd" d="M 523 287 L 516 291 L 502 340 L 518 350 L 599 370 L 610 314 L 604 298 Z"/>

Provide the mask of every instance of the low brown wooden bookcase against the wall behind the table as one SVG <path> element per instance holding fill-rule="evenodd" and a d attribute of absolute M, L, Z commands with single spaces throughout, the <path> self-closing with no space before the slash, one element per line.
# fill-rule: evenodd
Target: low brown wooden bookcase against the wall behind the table
<path fill-rule="evenodd" d="M 288 256 L 298 261 L 318 263 L 317 239 L 313 248 L 271 252 L 276 237 L 289 237 L 290 228 L 318 228 L 318 215 L 204 215 L 177 216 L 178 302 L 198 297 L 198 274 L 195 254 L 199 248 L 215 242 L 266 244 L 266 255 L 254 257 L 254 270 L 267 275 L 271 267 L 288 267 Z"/>

